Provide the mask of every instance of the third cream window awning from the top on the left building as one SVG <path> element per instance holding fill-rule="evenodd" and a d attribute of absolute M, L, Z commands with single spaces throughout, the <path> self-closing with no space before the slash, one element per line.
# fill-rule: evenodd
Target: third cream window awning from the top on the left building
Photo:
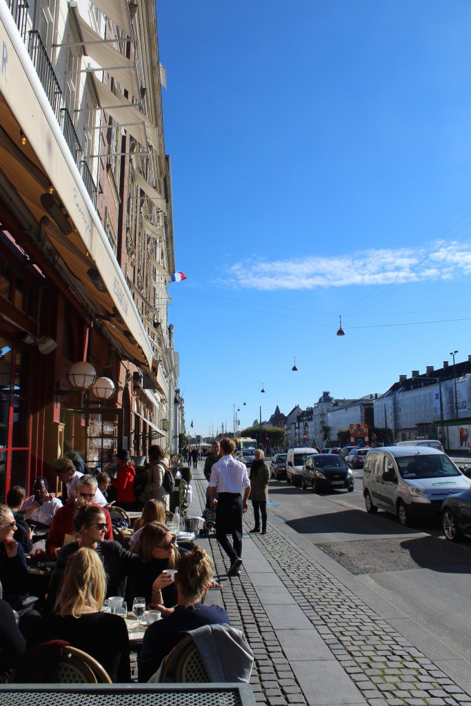
<path fill-rule="evenodd" d="M 138 111 L 123 95 L 116 95 L 109 88 L 92 76 L 93 85 L 98 96 L 98 102 L 126 132 L 135 138 L 138 143 L 147 148 L 148 140 L 158 150 L 157 128 L 145 115 Z"/>

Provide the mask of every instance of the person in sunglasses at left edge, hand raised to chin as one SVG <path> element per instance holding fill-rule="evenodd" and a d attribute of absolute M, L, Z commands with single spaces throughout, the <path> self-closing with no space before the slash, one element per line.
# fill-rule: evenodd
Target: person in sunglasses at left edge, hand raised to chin
<path fill-rule="evenodd" d="M 2 597 L 13 608 L 28 593 L 28 572 L 23 546 L 13 534 L 16 522 L 11 509 L 0 504 L 0 582 Z"/>

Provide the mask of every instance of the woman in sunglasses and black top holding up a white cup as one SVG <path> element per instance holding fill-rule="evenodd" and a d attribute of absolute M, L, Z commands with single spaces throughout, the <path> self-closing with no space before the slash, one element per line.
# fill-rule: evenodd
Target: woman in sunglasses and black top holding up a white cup
<path fill-rule="evenodd" d="M 166 569 L 174 569 L 180 557 L 176 537 L 167 525 L 149 522 L 141 532 L 139 561 L 131 568 L 126 599 L 129 605 L 136 596 L 144 596 L 146 606 L 167 607 L 177 603 L 177 589 Z"/>

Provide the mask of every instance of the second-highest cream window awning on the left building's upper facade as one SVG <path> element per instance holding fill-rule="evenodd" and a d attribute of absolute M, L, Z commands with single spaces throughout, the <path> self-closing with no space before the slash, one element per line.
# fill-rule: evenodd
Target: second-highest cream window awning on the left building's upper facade
<path fill-rule="evenodd" d="M 141 90 L 138 84 L 136 64 L 114 49 L 112 44 L 104 42 L 103 37 L 97 35 L 97 32 L 94 32 L 78 12 L 74 12 L 73 16 L 76 18 L 78 30 L 81 33 L 81 41 L 85 43 L 83 47 L 85 54 L 88 54 L 90 59 L 96 61 L 99 66 L 105 68 L 119 85 L 129 90 L 138 99 Z"/>

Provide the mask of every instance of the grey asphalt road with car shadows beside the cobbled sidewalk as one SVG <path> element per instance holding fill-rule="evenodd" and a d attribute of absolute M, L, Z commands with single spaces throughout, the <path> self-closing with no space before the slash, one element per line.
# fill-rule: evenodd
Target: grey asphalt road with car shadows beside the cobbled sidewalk
<path fill-rule="evenodd" d="M 270 481 L 270 511 L 303 534 L 376 595 L 394 606 L 409 638 L 458 652 L 471 666 L 471 540 L 448 542 L 439 520 L 402 527 L 379 510 L 364 509 L 361 472 L 353 493 L 314 493 Z M 440 650 L 439 650 L 440 651 Z"/>

